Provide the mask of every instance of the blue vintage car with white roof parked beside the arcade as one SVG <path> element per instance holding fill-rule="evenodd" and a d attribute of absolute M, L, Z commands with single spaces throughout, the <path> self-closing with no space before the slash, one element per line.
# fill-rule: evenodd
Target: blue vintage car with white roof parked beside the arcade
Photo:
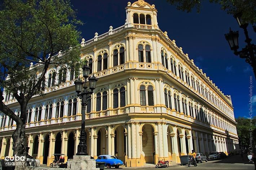
<path fill-rule="evenodd" d="M 105 166 L 107 168 L 115 167 L 119 168 L 120 165 L 124 165 L 124 162 L 120 159 L 117 159 L 115 156 L 112 155 L 100 155 L 96 159 L 96 162 L 105 162 Z"/>

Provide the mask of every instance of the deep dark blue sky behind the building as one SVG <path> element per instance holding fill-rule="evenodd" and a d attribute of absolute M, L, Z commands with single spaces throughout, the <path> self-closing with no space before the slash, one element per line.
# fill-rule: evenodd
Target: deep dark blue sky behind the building
<path fill-rule="evenodd" d="M 125 23 L 125 6 L 128 0 L 93 0 L 71 1 L 77 9 L 78 19 L 85 23 L 80 26 L 82 37 L 89 40 L 94 33 L 99 35 Z M 134 1 L 131 1 L 133 3 Z M 244 47 L 243 30 L 238 27 L 232 15 L 220 9 L 220 5 L 203 3 L 201 12 L 186 13 L 169 5 L 165 0 L 146 0 L 155 4 L 158 10 L 158 26 L 168 32 L 171 40 L 176 40 L 178 47 L 194 59 L 195 64 L 203 69 L 208 77 L 225 95 L 231 95 L 235 117 L 250 117 L 249 112 L 249 81 L 250 75 L 255 78 L 251 66 L 244 59 L 235 56 L 230 50 L 224 34 L 229 27 L 239 31 L 239 45 Z M 252 26 L 248 26 L 249 36 L 256 40 Z M 255 41 L 252 41 L 252 43 Z M 255 87 L 256 88 L 256 87 Z M 256 104 L 256 95 L 253 105 Z M 253 112 L 256 116 L 256 111 Z"/>

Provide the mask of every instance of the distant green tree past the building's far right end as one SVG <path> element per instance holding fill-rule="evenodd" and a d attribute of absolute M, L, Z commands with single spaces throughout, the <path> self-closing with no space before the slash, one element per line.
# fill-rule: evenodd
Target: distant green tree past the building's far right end
<path fill-rule="evenodd" d="M 251 119 L 238 117 L 235 119 L 237 122 L 237 134 L 239 138 L 239 145 L 242 148 L 250 147 L 250 133 L 252 133 L 253 142 L 256 144 L 256 116 Z"/>

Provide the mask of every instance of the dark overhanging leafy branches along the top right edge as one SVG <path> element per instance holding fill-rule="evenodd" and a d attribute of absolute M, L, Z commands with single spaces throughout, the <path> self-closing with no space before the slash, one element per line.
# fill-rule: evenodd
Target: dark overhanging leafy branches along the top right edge
<path fill-rule="evenodd" d="M 167 0 L 171 5 L 175 5 L 178 10 L 191 12 L 194 8 L 200 12 L 202 0 Z M 221 5 L 221 9 L 231 15 L 242 14 L 242 19 L 251 23 L 256 23 L 256 1 L 253 0 L 209 0 L 210 3 Z"/>

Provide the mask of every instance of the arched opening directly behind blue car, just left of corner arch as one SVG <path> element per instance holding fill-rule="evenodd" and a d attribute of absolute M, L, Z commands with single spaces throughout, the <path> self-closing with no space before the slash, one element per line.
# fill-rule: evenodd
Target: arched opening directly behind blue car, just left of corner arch
<path fill-rule="evenodd" d="M 118 159 L 125 161 L 126 143 L 125 143 L 125 129 L 122 125 L 115 128 L 114 137 L 114 153 L 118 154 Z"/>

